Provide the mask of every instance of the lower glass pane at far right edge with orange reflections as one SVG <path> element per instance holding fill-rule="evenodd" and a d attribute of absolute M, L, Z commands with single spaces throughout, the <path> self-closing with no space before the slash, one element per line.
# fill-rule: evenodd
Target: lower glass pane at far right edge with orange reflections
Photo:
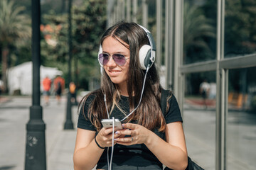
<path fill-rule="evenodd" d="M 255 169 L 256 67 L 232 69 L 228 79 L 228 169 Z"/>

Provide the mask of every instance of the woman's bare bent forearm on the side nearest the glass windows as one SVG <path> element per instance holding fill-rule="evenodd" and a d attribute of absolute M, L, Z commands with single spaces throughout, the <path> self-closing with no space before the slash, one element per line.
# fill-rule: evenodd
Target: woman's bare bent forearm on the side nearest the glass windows
<path fill-rule="evenodd" d="M 150 131 L 145 145 L 165 166 L 171 169 L 186 169 L 188 162 L 186 152 L 165 142 L 154 132 Z"/>

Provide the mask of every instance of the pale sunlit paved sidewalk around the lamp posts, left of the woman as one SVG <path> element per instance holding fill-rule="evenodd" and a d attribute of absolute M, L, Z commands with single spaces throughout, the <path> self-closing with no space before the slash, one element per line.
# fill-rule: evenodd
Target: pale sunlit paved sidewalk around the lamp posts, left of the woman
<path fill-rule="evenodd" d="M 0 170 L 24 169 L 26 153 L 26 123 L 29 120 L 31 97 L 5 97 L 0 101 Z M 43 98 L 41 99 L 43 106 Z M 73 169 L 78 106 L 73 106 L 74 130 L 63 130 L 66 100 L 60 105 L 50 98 L 50 105 L 43 106 L 46 123 L 46 164 L 48 170 Z"/>

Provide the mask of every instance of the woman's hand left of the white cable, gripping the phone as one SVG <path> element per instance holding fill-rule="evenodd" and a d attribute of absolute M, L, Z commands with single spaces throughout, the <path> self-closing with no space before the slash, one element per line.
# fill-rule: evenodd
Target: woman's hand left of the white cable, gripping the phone
<path fill-rule="evenodd" d="M 112 147 L 112 131 L 113 128 L 102 128 L 96 136 L 97 143 L 100 147 Z M 114 131 L 116 131 L 114 129 Z M 114 138 L 119 137 L 119 134 L 114 133 Z M 117 142 L 114 141 L 114 144 Z"/>

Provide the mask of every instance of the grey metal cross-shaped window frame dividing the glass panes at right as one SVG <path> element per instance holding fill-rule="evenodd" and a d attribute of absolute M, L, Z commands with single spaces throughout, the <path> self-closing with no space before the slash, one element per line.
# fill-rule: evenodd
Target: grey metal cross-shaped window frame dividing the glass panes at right
<path fill-rule="evenodd" d="M 215 169 L 227 169 L 226 126 L 228 115 L 228 71 L 256 67 L 256 54 L 224 58 L 224 29 L 225 29 L 225 0 L 218 0 L 217 14 L 217 55 L 216 60 L 196 62 L 193 64 L 180 64 L 178 71 L 181 75 L 194 72 L 216 72 L 216 141 L 215 141 Z M 182 45 L 182 44 L 181 44 Z M 176 75 L 174 74 L 174 77 Z M 177 77 L 177 76 L 176 76 Z M 184 81 L 178 86 L 178 94 L 182 94 Z M 181 101 L 183 101 L 181 96 Z M 183 103 L 181 103 L 183 105 Z"/>

